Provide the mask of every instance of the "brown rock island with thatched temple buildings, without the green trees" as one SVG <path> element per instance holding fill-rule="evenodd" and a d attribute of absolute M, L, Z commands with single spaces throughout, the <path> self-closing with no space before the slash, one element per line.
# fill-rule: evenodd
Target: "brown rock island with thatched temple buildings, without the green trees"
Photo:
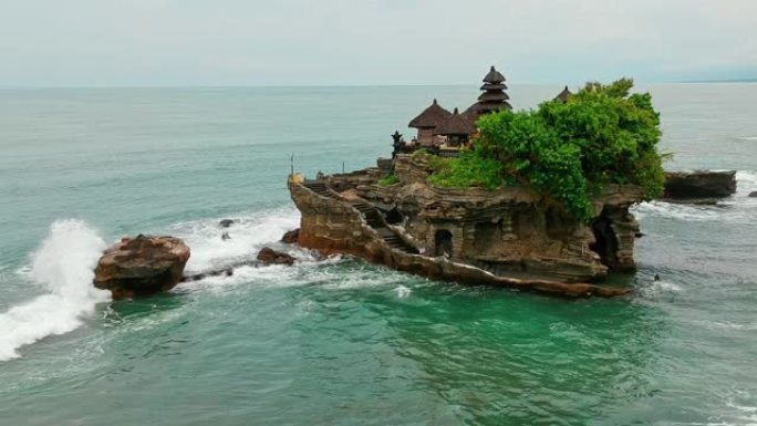
<path fill-rule="evenodd" d="M 529 187 L 429 183 L 435 155 L 459 155 L 478 117 L 512 108 L 506 89 L 492 66 L 473 105 L 450 113 L 434 100 L 408 124 L 417 137 L 405 142 L 395 132 L 392 158 L 380 158 L 377 167 L 315 180 L 293 174 L 289 189 L 302 215 L 298 243 L 434 279 L 571 297 L 628 292 L 594 281 L 635 269 L 639 226 L 629 208 L 641 200 L 640 188 L 606 185 L 584 222 Z M 566 87 L 558 98 L 569 96 Z"/>

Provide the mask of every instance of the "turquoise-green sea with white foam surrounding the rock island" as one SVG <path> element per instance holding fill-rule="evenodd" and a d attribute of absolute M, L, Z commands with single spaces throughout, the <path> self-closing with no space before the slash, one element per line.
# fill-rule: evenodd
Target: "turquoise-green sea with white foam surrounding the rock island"
<path fill-rule="evenodd" d="M 276 242 L 292 153 L 310 176 L 370 166 L 477 87 L 0 91 L 0 425 L 757 424 L 757 85 L 645 89 L 668 168 L 738 169 L 739 190 L 636 207 L 640 271 L 618 279 L 637 291 L 580 301 Z M 265 245 L 302 261 L 108 302 L 90 268 L 137 232 L 185 238 L 190 270 Z"/>

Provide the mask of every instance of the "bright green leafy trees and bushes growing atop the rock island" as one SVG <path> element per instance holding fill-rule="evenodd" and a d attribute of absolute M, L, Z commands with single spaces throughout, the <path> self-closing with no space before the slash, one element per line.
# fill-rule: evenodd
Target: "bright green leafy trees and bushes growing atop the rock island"
<path fill-rule="evenodd" d="M 592 216 L 602 184 L 634 184 L 647 198 L 662 193 L 660 115 L 633 81 L 589 83 L 536 111 L 485 115 L 471 149 L 435 165 L 431 181 L 446 187 L 518 183 L 559 201 L 574 217 Z"/>

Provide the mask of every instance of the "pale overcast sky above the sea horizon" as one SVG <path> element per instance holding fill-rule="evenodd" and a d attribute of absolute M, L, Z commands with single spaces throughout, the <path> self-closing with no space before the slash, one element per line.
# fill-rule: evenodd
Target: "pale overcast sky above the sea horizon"
<path fill-rule="evenodd" d="M 757 79 L 757 0 L 0 0 L 0 86 Z"/>

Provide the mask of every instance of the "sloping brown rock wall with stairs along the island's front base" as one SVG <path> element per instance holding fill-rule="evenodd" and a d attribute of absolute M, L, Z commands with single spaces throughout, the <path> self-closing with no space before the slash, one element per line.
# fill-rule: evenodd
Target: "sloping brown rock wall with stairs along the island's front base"
<path fill-rule="evenodd" d="M 527 274 L 502 276 L 452 256 L 422 253 L 425 250 L 418 246 L 423 246 L 423 240 L 408 232 L 405 227 L 393 226 L 385 218 L 376 216 L 378 210 L 372 210 L 374 207 L 357 196 L 388 194 L 381 188 L 361 186 L 360 189 L 351 188 L 344 196 L 340 196 L 323 183 L 290 183 L 289 187 L 292 199 L 302 214 L 298 243 L 325 254 L 353 254 L 433 279 L 506 285 L 567 297 L 610 297 L 628 292 L 628 289 L 566 283 Z"/>

